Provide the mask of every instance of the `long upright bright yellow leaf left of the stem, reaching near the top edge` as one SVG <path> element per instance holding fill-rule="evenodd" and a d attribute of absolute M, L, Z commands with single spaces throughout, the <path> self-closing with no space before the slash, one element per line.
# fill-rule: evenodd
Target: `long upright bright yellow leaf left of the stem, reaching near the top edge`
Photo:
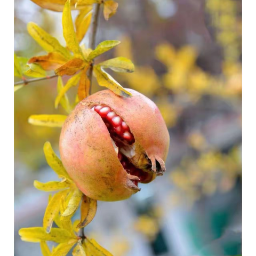
<path fill-rule="evenodd" d="M 70 10 L 70 0 L 67 0 L 62 14 L 62 27 L 63 27 L 63 36 L 67 43 L 67 47 L 70 51 L 74 52 L 76 58 L 84 58 L 81 48 L 78 44 L 76 33 L 73 25 L 73 20 Z"/>

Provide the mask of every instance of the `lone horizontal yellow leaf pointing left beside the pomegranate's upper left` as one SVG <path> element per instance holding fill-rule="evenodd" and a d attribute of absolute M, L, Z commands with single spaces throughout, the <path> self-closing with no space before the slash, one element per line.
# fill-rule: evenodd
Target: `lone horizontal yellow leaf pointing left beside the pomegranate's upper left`
<path fill-rule="evenodd" d="M 28 122 L 39 126 L 61 127 L 66 118 L 65 115 L 31 115 Z"/>

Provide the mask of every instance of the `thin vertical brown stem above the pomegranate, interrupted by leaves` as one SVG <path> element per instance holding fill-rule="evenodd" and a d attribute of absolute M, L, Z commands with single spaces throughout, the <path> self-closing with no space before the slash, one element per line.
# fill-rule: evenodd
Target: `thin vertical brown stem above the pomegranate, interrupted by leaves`
<path fill-rule="evenodd" d="M 96 34 L 98 28 L 98 21 L 99 21 L 99 12 L 100 12 L 100 4 L 94 5 L 93 16 L 92 16 L 92 30 L 89 38 L 89 48 L 92 50 L 95 49 L 95 41 L 96 41 Z M 90 94 L 92 90 L 92 70 L 93 70 L 93 63 L 88 70 L 88 78 L 90 80 Z"/>

